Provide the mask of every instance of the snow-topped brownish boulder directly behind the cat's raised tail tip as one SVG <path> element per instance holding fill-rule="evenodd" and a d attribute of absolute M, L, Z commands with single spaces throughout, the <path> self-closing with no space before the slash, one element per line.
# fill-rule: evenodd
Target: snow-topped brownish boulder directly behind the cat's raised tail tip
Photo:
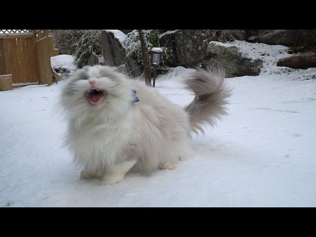
<path fill-rule="evenodd" d="M 236 46 L 227 46 L 220 42 L 210 42 L 207 46 L 206 59 L 201 67 L 220 65 L 226 71 L 226 78 L 257 76 L 262 68 L 261 59 L 244 56 Z"/>

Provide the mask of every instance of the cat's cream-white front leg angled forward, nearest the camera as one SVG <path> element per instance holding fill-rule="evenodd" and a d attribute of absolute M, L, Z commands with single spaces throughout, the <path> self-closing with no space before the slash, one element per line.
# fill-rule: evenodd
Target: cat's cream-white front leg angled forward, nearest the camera
<path fill-rule="evenodd" d="M 137 159 L 129 159 L 108 168 L 103 175 L 100 184 L 112 185 L 122 181 L 125 174 L 134 166 L 136 161 Z"/>

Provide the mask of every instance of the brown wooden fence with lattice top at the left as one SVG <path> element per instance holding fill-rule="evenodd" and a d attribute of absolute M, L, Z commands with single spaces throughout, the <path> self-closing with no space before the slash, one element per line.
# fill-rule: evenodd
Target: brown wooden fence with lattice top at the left
<path fill-rule="evenodd" d="M 2 30 L 4 31 L 4 30 Z M 0 75 L 14 84 L 52 84 L 50 57 L 58 55 L 47 31 L 0 32 Z"/>

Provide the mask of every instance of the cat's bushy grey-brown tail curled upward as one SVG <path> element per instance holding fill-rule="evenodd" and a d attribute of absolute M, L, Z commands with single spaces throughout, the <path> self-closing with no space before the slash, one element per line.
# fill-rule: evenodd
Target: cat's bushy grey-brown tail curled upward
<path fill-rule="evenodd" d="M 203 127 L 213 126 L 227 115 L 225 105 L 231 89 L 225 85 L 225 70 L 220 67 L 197 69 L 188 75 L 184 83 L 195 93 L 194 100 L 184 108 L 190 116 L 191 131 L 204 133 Z"/>

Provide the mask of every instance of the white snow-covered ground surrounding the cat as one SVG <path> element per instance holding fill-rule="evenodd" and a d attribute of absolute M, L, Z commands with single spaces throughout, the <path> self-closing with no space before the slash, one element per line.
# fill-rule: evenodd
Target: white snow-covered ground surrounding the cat
<path fill-rule="evenodd" d="M 65 123 L 53 105 L 65 81 L 1 91 L 0 206 L 316 206 L 316 68 L 276 67 L 286 47 L 238 43 L 267 54 L 260 76 L 227 79 L 230 115 L 174 170 L 113 186 L 79 179 L 61 148 Z M 179 81 L 190 70 L 160 75 L 157 89 L 189 103 Z"/>

